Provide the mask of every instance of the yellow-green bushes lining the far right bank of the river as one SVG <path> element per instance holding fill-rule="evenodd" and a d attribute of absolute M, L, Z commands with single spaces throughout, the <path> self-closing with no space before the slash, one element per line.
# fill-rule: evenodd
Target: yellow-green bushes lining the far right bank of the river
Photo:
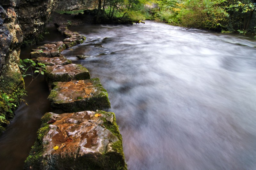
<path fill-rule="evenodd" d="M 255 33 L 256 6 L 250 0 L 157 0 L 156 19 L 173 25 Z M 242 30 L 238 31 L 238 30 Z"/>

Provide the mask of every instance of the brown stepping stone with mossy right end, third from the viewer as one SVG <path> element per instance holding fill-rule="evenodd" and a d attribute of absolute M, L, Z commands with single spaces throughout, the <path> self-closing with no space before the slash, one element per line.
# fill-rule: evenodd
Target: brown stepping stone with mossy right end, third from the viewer
<path fill-rule="evenodd" d="M 89 71 L 79 64 L 46 66 L 45 70 L 45 80 L 49 87 L 53 82 L 90 79 Z"/>

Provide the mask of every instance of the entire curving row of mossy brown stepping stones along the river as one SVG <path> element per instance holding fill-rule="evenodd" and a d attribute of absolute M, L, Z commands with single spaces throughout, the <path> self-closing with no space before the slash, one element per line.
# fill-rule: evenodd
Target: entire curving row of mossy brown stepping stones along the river
<path fill-rule="evenodd" d="M 122 136 L 99 78 L 60 53 L 85 37 L 58 27 L 67 38 L 33 49 L 31 58 L 46 65 L 52 110 L 42 117 L 25 169 L 127 169 Z M 99 110 L 98 110 L 99 109 Z M 105 111 L 100 111 L 105 110 Z"/>

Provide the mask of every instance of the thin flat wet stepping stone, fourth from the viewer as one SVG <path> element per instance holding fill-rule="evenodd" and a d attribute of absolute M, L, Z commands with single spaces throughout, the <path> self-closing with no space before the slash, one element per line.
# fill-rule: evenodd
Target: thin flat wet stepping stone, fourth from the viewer
<path fill-rule="evenodd" d="M 71 64 L 71 61 L 68 60 L 63 55 L 61 55 L 60 57 L 52 57 L 52 58 L 38 57 L 38 58 L 36 58 L 36 62 L 42 63 L 44 65 L 49 65 L 49 66 L 53 66 L 53 65 L 62 65 L 63 66 L 63 65 Z"/>

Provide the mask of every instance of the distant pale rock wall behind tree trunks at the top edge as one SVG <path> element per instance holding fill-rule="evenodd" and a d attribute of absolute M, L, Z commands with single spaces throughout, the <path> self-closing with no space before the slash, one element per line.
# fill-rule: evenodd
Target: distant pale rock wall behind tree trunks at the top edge
<path fill-rule="evenodd" d="M 60 2 L 58 4 L 57 10 L 76 11 L 76 10 L 90 9 L 90 8 L 95 8 L 97 6 L 97 2 L 98 1 L 95 1 L 95 0 L 71 0 L 71 1 L 68 1 L 68 3 Z"/>

